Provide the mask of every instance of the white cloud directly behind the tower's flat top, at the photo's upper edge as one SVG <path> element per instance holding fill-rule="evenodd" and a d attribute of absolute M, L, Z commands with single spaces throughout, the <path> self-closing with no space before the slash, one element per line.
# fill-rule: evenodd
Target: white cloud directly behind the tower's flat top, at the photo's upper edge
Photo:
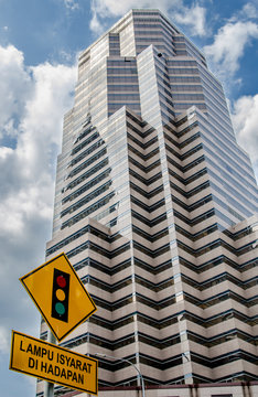
<path fill-rule="evenodd" d="M 110 17 L 121 17 L 133 8 L 159 9 L 166 15 L 171 15 L 176 23 L 185 25 L 193 35 L 205 34 L 206 11 L 198 2 L 193 2 L 189 8 L 183 0 L 93 0 L 90 29 L 101 34 L 107 25 L 105 20 Z"/>

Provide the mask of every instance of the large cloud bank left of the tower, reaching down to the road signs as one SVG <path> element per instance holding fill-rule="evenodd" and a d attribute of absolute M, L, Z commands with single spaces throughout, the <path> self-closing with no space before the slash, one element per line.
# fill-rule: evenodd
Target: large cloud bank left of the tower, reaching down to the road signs
<path fill-rule="evenodd" d="M 19 277 L 44 261 L 54 163 L 63 115 L 73 106 L 76 68 L 50 63 L 26 67 L 22 52 L 11 45 L 0 46 L 0 337 L 6 335 L 0 350 L 4 350 L 11 329 L 33 334 L 36 328 L 37 335 L 36 309 Z"/>

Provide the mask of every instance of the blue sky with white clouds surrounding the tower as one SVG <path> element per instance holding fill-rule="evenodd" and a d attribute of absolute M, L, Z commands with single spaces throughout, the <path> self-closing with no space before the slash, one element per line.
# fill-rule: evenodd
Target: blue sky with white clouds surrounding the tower
<path fill-rule="evenodd" d="M 258 175 L 258 0 L 0 0 L 0 384 L 35 395 L 9 371 L 11 330 L 39 337 L 40 314 L 19 278 L 51 239 L 63 115 L 79 52 L 131 8 L 159 8 L 224 84 L 239 144 Z"/>

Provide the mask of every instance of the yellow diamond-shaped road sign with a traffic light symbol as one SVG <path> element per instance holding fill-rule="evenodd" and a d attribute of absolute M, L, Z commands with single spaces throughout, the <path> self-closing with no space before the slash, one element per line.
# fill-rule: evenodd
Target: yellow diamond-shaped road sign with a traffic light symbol
<path fill-rule="evenodd" d="M 20 280 L 58 341 L 97 310 L 65 254 Z"/>

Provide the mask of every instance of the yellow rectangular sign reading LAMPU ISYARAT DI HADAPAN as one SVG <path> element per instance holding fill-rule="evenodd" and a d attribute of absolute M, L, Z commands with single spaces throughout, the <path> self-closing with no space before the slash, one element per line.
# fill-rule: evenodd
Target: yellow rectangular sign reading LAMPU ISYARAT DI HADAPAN
<path fill-rule="evenodd" d="M 12 331 L 10 369 L 98 394 L 98 361 Z"/>

